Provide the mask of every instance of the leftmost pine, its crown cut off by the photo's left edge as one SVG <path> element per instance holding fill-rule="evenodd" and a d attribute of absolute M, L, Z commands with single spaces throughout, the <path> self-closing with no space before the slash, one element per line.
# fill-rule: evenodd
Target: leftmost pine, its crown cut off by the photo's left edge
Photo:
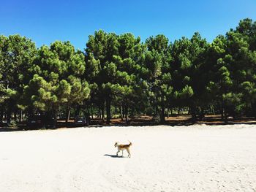
<path fill-rule="evenodd" d="M 5 89 L 7 120 L 10 123 L 12 112 L 18 111 L 18 103 L 23 93 L 23 85 L 29 80 L 27 72 L 37 53 L 34 42 L 20 35 L 0 37 L 1 86 Z"/>

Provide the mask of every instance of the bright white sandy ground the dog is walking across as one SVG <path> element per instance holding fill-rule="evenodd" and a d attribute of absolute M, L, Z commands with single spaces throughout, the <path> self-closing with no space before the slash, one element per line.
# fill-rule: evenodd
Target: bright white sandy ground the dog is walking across
<path fill-rule="evenodd" d="M 256 126 L 0 132 L 0 191 L 255 192 Z"/>

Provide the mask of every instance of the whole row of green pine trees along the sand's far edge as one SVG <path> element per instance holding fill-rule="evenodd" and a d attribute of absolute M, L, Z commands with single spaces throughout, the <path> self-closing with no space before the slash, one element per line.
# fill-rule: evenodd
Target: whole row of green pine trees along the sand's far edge
<path fill-rule="evenodd" d="M 91 112 L 110 123 L 113 112 L 153 115 L 172 109 L 256 116 L 256 22 L 208 43 L 200 34 L 169 42 L 164 35 L 141 42 L 132 34 L 99 30 L 83 51 L 70 42 L 35 46 L 31 39 L 0 36 L 0 120 L 37 112 Z M 91 110 L 92 109 L 92 110 Z"/>

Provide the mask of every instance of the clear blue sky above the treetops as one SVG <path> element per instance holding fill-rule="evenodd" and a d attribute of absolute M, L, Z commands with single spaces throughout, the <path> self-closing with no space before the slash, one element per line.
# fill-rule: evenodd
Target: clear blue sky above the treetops
<path fill-rule="evenodd" d="M 211 42 L 243 18 L 256 20 L 256 0 L 3 0 L 0 34 L 29 37 L 37 47 L 69 40 L 80 50 L 99 29 L 143 41 L 165 34 L 172 42 L 198 31 Z"/>

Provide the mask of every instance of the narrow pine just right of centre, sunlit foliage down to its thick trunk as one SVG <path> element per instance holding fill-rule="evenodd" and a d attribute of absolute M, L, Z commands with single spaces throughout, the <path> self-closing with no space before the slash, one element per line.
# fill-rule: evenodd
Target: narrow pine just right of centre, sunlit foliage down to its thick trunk
<path fill-rule="evenodd" d="M 167 98 L 173 87 L 170 85 L 170 47 L 164 35 L 146 39 L 148 52 L 145 55 L 145 66 L 148 69 L 148 84 L 151 88 L 151 103 L 154 106 L 154 116 L 161 123 L 165 122 L 165 107 Z M 160 109 L 159 109 L 160 107 Z M 159 118 L 158 118 L 159 117 Z"/>

